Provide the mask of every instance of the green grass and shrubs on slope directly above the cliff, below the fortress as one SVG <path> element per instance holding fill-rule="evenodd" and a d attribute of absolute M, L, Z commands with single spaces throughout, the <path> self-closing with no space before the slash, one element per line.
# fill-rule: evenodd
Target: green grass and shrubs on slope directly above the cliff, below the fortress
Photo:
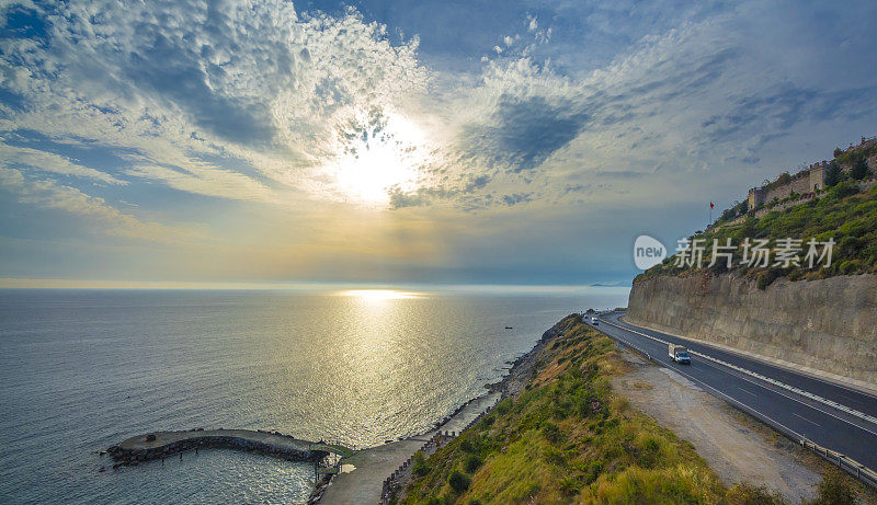
<path fill-rule="evenodd" d="M 842 182 L 828 191 L 819 199 L 810 200 L 785 210 L 772 211 L 761 219 L 754 217 L 733 226 L 724 226 L 705 233 L 694 236 L 693 239 L 703 239 L 706 245 L 704 262 L 701 268 L 676 267 L 676 256 L 670 256 L 661 264 L 653 266 L 637 276 L 635 283 L 659 275 L 688 275 L 693 272 L 726 273 L 725 262 L 719 259 L 714 267 L 707 265 L 714 240 L 725 244 L 728 239 L 737 245 L 731 271 L 747 278 L 756 280 L 759 288 L 764 289 L 775 279 L 787 277 L 789 280 L 820 279 L 835 275 L 855 275 L 863 273 L 877 273 L 877 186 L 867 192 L 859 193 L 854 182 Z M 793 238 L 801 239 L 801 265 L 789 268 L 779 266 L 749 267 L 740 265 L 745 239 L 768 239 L 771 246 L 775 240 Z M 809 268 L 804 262 L 807 252 L 807 242 L 835 241 L 830 267 L 821 265 Z M 772 255 L 773 262 L 773 255 Z"/>

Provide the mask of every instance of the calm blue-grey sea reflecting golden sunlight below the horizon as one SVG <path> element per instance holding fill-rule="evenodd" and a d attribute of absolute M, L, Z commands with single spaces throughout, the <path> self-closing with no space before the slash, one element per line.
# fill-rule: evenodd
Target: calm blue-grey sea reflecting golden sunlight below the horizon
<path fill-rule="evenodd" d="M 300 502 L 307 464 L 207 450 L 99 472 L 91 451 L 194 427 L 379 445 L 480 394 L 561 317 L 626 299 L 0 290 L 0 502 Z"/>

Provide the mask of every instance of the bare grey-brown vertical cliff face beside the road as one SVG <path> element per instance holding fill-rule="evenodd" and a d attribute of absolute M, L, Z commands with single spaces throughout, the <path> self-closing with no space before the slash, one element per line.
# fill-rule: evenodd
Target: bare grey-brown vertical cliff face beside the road
<path fill-rule="evenodd" d="M 626 320 L 877 385 L 877 276 L 637 279 Z"/>

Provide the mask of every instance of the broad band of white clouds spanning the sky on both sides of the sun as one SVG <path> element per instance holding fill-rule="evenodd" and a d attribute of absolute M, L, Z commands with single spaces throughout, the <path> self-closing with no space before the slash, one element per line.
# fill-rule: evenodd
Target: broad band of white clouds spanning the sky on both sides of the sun
<path fill-rule="evenodd" d="M 96 141 L 122 152 L 121 173 L 240 200 L 343 197 L 333 165 L 372 115 L 405 116 L 429 133 L 429 144 L 403 147 L 430 156 L 419 188 L 395 188 L 396 202 L 479 208 L 523 194 L 527 205 L 579 198 L 558 196 L 570 177 L 625 174 L 616 186 L 629 191 L 636 174 L 748 163 L 772 136 L 816 107 L 843 108 L 846 96 L 789 70 L 784 51 L 760 50 L 770 34 L 752 18 L 784 14 L 750 4 L 683 15 L 586 71 L 537 57 L 554 43 L 551 26 L 532 15 L 521 26 L 531 43 L 502 37 L 480 74 L 434 73 L 417 38 L 392 44 L 353 10 L 303 15 L 280 0 L 47 10 L 47 44 L 0 42 L 2 85 L 29 104 L 5 106 L 0 131 Z M 748 108 L 760 108 L 759 119 Z"/>

